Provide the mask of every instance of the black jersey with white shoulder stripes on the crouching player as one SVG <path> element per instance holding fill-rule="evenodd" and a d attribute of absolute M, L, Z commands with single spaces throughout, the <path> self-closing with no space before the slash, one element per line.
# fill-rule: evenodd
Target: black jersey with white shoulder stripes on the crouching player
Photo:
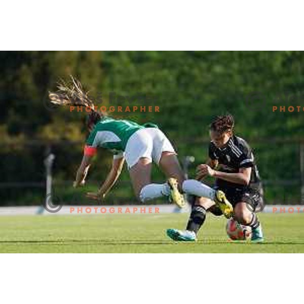
<path fill-rule="evenodd" d="M 219 187 L 250 187 L 258 189 L 261 181 L 257 167 L 254 162 L 252 150 L 248 143 L 241 137 L 232 136 L 223 148 L 217 148 L 211 141 L 209 145 L 209 157 L 217 160 L 219 171 L 227 173 L 238 173 L 240 168 L 252 168 L 249 186 L 229 182 L 223 179 L 216 179 Z"/>

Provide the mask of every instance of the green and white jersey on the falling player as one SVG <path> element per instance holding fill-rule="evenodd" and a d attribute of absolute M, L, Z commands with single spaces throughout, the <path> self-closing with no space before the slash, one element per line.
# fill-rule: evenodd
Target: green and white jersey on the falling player
<path fill-rule="evenodd" d="M 143 128 L 145 126 L 128 120 L 115 120 L 105 117 L 95 125 L 86 141 L 86 145 L 109 149 L 115 155 L 121 154 L 133 133 Z"/>

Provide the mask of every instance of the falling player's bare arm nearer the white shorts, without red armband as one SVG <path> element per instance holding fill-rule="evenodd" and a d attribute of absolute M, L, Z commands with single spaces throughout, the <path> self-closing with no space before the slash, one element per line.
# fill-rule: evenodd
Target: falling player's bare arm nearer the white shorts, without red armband
<path fill-rule="evenodd" d="M 107 175 L 105 181 L 99 188 L 98 192 L 97 193 L 89 192 L 87 193 L 87 196 L 91 199 L 96 199 L 96 200 L 103 199 L 105 195 L 110 191 L 112 186 L 115 184 L 115 182 L 118 180 L 122 172 L 124 162 L 125 162 L 124 157 L 119 159 L 113 159 L 112 168 L 109 174 Z"/>

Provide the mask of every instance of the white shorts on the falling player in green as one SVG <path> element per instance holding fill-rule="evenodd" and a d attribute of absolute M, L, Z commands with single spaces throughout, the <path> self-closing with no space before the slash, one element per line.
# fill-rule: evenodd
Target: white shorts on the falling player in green
<path fill-rule="evenodd" d="M 160 129 L 140 129 L 129 138 L 125 149 L 125 159 L 129 169 L 142 157 L 158 165 L 164 151 L 176 154 L 171 142 Z"/>

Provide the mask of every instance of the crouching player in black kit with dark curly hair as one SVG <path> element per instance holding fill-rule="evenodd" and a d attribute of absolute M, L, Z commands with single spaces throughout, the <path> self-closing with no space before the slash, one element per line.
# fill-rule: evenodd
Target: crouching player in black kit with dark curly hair
<path fill-rule="evenodd" d="M 263 234 L 256 212 L 263 208 L 262 186 L 248 143 L 234 135 L 234 118 L 218 116 L 210 125 L 209 160 L 197 167 L 198 180 L 215 178 L 214 189 L 220 189 L 234 207 L 234 218 L 252 228 L 251 241 L 262 242 Z M 195 241 L 205 221 L 206 211 L 221 215 L 208 198 L 193 197 L 193 206 L 186 230 L 168 229 L 175 241 Z"/>

